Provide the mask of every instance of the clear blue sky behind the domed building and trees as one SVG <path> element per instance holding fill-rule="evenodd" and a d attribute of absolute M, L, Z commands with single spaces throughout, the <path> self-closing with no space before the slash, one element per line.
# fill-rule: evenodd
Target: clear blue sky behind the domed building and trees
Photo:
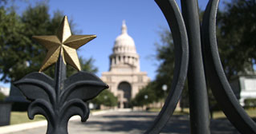
<path fill-rule="evenodd" d="M 35 5 L 38 1 L 29 1 Z M 199 0 L 199 7 L 205 9 L 206 0 Z M 28 2 L 14 1 L 18 12 L 26 9 Z M 50 14 L 61 10 L 67 18 L 75 22 L 75 30 L 79 34 L 96 34 L 97 37 L 79 48 L 79 56 L 93 57 L 94 65 L 99 69 L 96 73 L 108 71 L 108 56 L 116 37 L 120 34 L 122 21 L 126 21 L 128 34 L 134 39 L 137 53 L 140 55 L 140 69 L 148 72 L 153 80 L 159 64 L 154 59 L 155 43 L 160 42 L 161 28 L 168 28 L 161 10 L 153 0 L 49 0 Z M 178 2 L 180 4 L 180 2 Z M 9 86 L 8 84 L 0 85 Z"/>

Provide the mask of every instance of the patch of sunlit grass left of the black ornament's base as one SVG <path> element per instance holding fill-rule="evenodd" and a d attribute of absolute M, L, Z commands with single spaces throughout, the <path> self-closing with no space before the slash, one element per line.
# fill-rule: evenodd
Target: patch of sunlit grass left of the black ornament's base
<path fill-rule="evenodd" d="M 27 116 L 27 112 L 10 113 L 10 124 L 22 124 L 39 120 L 45 120 L 45 117 L 41 115 L 36 115 L 34 120 L 30 120 Z"/>

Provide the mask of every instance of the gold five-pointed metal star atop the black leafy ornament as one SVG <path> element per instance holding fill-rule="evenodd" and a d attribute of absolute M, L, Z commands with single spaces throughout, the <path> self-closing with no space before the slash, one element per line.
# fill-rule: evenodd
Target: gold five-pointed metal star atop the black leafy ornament
<path fill-rule="evenodd" d="M 40 44 L 44 45 L 48 52 L 43 65 L 39 72 L 58 61 L 61 55 L 66 64 L 72 65 L 75 69 L 81 70 L 79 58 L 76 49 L 94 39 L 95 35 L 71 35 L 70 26 L 67 16 L 63 18 L 63 22 L 59 26 L 57 35 L 51 36 L 33 36 Z"/>

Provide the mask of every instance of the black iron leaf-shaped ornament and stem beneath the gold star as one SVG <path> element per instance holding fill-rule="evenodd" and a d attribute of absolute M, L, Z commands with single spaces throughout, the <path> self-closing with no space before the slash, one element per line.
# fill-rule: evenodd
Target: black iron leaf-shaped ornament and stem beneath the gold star
<path fill-rule="evenodd" d="M 66 78 L 63 58 L 59 57 L 56 66 L 55 81 L 44 73 L 30 73 L 14 85 L 32 101 L 28 109 L 30 119 L 41 114 L 47 118 L 48 134 L 67 134 L 71 116 L 79 115 L 81 121 L 86 121 L 89 116 L 90 110 L 83 101 L 96 97 L 108 85 L 91 73 L 79 72 Z"/>

